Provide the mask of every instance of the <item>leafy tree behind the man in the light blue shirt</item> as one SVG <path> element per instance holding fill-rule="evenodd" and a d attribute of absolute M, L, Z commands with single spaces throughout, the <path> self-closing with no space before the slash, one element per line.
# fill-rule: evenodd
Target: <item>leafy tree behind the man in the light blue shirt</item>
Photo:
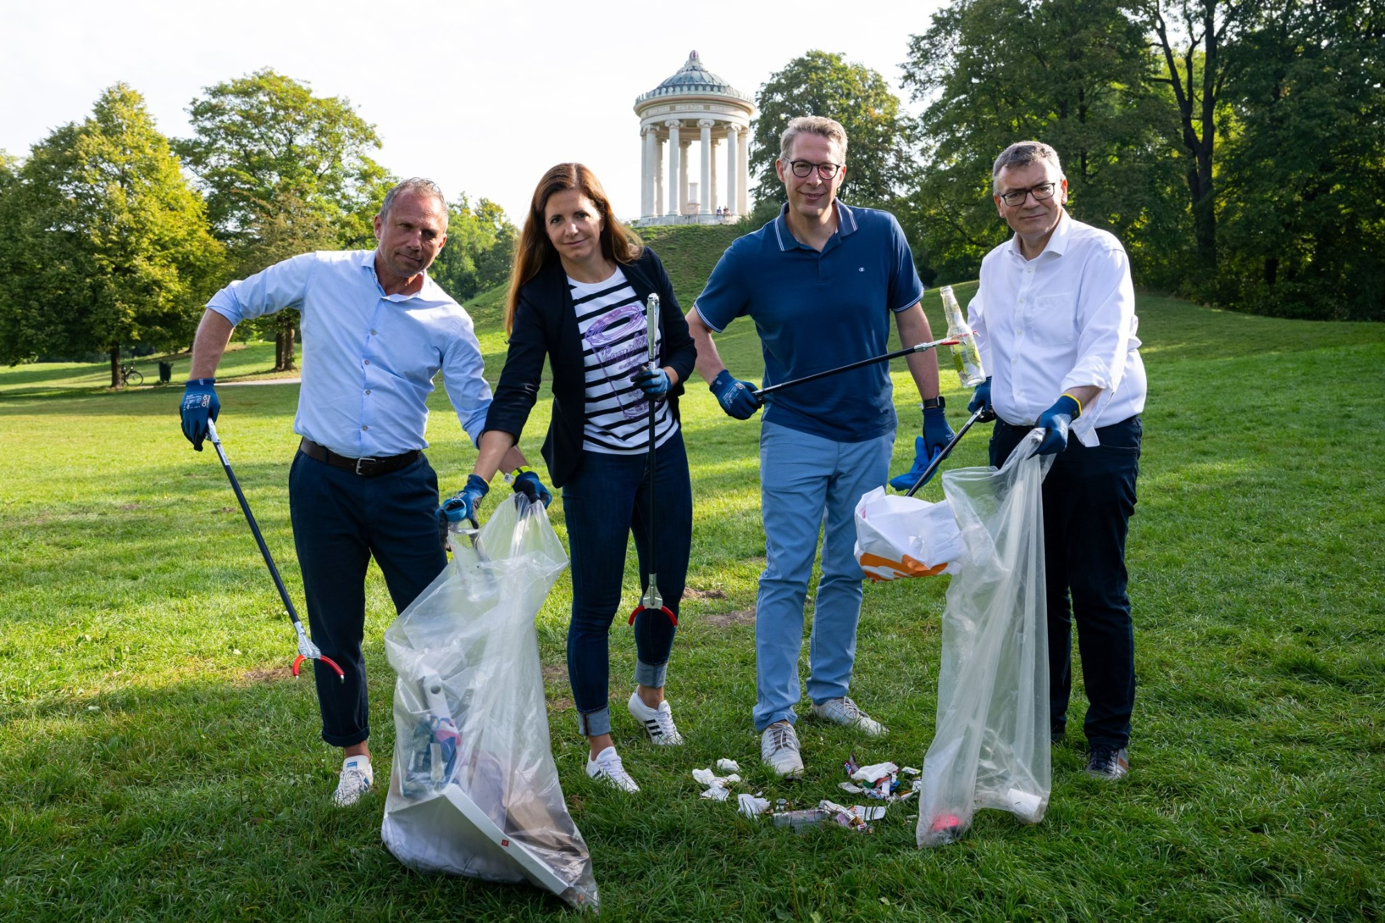
<path fill-rule="evenodd" d="M 206 191 L 219 237 L 253 237 L 292 201 L 337 227 L 341 245 L 370 240 L 389 177 L 370 157 L 379 148 L 375 126 L 349 100 L 313 96 L 266 68 L 206 87 L 188 116 L 193 137 L 175 146 Z"/>

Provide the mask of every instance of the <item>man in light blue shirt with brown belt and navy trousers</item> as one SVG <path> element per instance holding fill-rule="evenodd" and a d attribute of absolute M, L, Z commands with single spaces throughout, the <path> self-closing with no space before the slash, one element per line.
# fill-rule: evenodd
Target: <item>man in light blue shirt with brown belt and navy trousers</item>
<path fill-rule="evenodd" d="M 471 317 L 427 274 L 447 240 L 442 190 L 421 179 L 395 186 L 375 216 L 375 240 L 373 251 L 294 256 L 216 292 L 197 331 L 181 406 L 183 432 L 201 452 L 206 420 L 220 409 L 213 376 L 231 330 L 285 308 L 302 312 L 294 432 L 303 438 L 288 498 L 313 640 L 345 671 L 338 683 L 314 662 L 323 740 L 345 754 L 339 805 L 355 804 L 374 782 L 360 649 L 370 559 L 399 611 L 447 564 L 438 477 L 422 455 L 434 377 L 442 371 L 472 442 L 490 406 Z M 504 464 L 522 467 L 524 455 L 511 449 Z"/>

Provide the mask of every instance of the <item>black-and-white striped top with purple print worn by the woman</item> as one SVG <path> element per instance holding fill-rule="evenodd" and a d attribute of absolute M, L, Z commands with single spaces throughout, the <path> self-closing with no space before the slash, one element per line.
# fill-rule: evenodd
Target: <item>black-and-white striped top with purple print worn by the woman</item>
<path fill-rule="evenodd" d="M 630 378 L 648 366 L 648 322 L 644 305 L 618 266 L 605 281 L 582 283 L 568 276 L 582 334 L 586 366 L 587 423 L 582 448 L 607 455 L 638 455 L 650 448 L 650 406 Z M 658 331 L 655 331 L 658 337 Z M 668 401 L 656 407 L 655 445 L 679 428 Z"/>

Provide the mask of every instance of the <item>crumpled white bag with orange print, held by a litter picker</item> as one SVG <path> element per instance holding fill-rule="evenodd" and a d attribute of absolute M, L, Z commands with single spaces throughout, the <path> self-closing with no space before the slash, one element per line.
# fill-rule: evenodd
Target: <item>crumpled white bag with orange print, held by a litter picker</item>
<path fill-rule="evenodd" d="M 873 581 L 956 574 L 961 554 L 947 500 L 928 503 L 879 486 L 856 503 L 856 560 Z"/>

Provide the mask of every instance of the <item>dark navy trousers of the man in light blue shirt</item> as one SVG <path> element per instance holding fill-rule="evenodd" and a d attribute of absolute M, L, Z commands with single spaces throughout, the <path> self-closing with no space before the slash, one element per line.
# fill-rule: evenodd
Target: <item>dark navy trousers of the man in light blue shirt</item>
<path fill-rule="evenodd" d="M 366 661 L 366 568 L 379 564 L 396 611 L 447 565 L 438 538 L 438 475 L 420 456 L 409 467 L 363 478 L 303 453 L 288 473 L 294 547 L 303 571 L 313 642 L 346 680 L 314 662 L 323 740 L 349 747 L 370 736 Z"/>

